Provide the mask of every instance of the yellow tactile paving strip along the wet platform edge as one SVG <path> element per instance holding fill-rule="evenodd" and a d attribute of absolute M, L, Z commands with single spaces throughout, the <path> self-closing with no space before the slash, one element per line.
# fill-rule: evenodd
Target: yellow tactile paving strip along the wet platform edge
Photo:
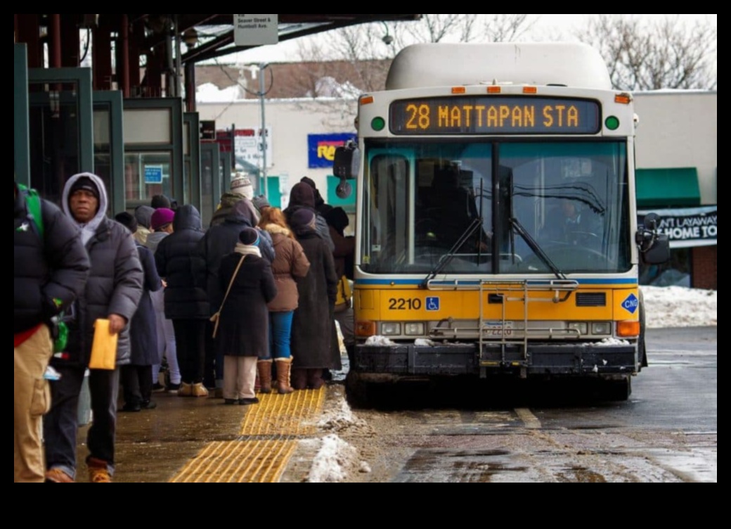
<path fill-rule="evenodd" d="M 241 422 L 241 437 L 207 443 L 170 483 L 271 483 L 279 481 L 298 438 L 316 431 L 325 387 L 292 394 L 259 394 Z"/>

